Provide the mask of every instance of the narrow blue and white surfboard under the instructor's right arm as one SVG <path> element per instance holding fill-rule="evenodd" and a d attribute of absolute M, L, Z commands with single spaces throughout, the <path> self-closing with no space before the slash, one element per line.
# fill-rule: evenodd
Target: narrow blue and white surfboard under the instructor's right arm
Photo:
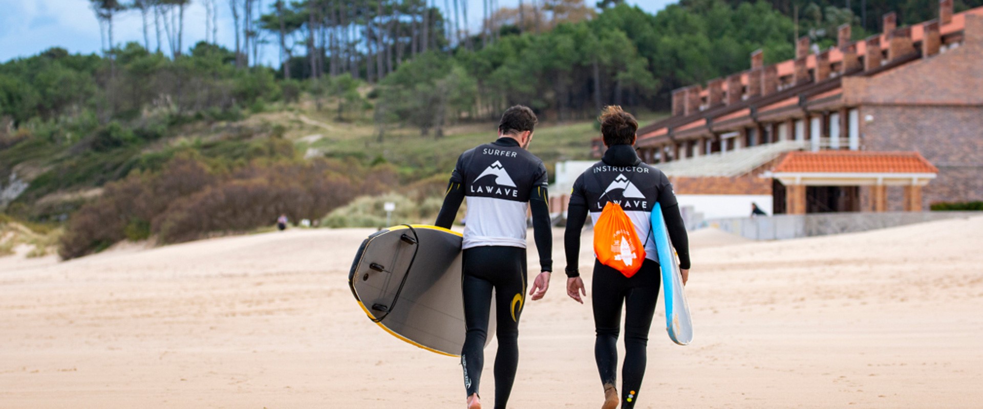
<path fill-rule="evenodd" d="M 665 303 L 665 331 L 669 338 L 680 345 L 693 341 L 693 321 L 689 315 L 689 304 L 683 292 L 679 263 L 676 261 L 669 230 L 665 227 L 662 205 L 656 203 L 652 210 L 652 233 L 656 240 L 656 252 L 663 273 L 663 302 Z"/>

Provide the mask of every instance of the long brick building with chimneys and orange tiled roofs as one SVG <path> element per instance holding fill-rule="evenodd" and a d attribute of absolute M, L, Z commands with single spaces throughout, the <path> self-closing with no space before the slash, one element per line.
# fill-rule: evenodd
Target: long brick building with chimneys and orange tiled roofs
<path fill-rule="evenodd" d="M 771 196 L 775 213 L 919 211 L 983 200 L 983 8 L 896 26 L 672 92 L 638 131 L 680 195 Z M 600 150 L 599 150 L 600 151 Z M 699 209 L 697 209 L 699 210 Z"/>

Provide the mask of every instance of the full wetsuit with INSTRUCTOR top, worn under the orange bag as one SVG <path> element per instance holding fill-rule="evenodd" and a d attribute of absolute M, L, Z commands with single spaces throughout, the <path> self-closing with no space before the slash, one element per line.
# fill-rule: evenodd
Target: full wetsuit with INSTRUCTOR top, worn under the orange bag
<path fill-rule="evenodd" d="M 679 255 L 679 267 L 689 269 L 689 239 L 679 214 L 672 185 L 662 171 L 642 163 L 631 145 L 613 145 L 598 162 L 573 184 L 564 233 L 566 275 L 579 277 L 580 230 L 588 214 L 595 223 L 608 201 L 617 202 L 631 219 L 639 238 L 645 242 L 646 258 L 632 278 L 595 259 L 592 283 L 594 325 L 597 338 L 594 355 L 606 387 L 615 385 L 617 376 L 617 336 L 621 307 L 625 307 L 624 365 L 621 369 L 621 407 L 632 408 L 645 375 L 649 329 L 656 311 L 661 282 L 655 238 L 652 236 L 652 209 L 662 205 L 669 238 Z"/>

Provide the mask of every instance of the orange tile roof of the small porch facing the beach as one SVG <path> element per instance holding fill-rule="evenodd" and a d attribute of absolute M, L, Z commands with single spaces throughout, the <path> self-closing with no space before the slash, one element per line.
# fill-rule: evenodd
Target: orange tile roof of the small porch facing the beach
<path fill-rule="evenodd" d="M 937 174 L 918 152 L 820 151 L 790 152 L 775 173 Z"/>

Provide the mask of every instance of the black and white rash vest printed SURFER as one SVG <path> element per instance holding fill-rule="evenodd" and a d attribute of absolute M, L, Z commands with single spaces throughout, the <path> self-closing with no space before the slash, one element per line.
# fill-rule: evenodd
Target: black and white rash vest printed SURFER
<path fill-rule="evenodd" d="M 462 185 L 468 203 L 463 248 L 526 248 L 530 196 L 549 185 L 540 158 L 515 139 L 499 138 L 461 154 L 450 182 Z"/>

